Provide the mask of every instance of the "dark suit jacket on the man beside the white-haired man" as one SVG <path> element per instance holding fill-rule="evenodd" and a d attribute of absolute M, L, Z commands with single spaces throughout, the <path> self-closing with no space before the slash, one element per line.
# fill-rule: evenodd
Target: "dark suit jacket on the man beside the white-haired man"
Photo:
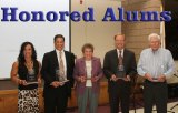
<path fill-rule="evenodd" d="M 117 49 L 106 53 L 105 60 L 103 60 L 103 73 L 108 79 L 109 91 L 110 89 L 115 89 L 116 86 L 116 82 L 110 81 L 110 78 L 112 74 L 116 74 L 118 62 L 119 62 L 119 59 L 118 59 Z M 125 66 L 126 75 L 132 76 L 137 74 L 135 53 L 127 49 L 123 49 L 123 66 Z"/>

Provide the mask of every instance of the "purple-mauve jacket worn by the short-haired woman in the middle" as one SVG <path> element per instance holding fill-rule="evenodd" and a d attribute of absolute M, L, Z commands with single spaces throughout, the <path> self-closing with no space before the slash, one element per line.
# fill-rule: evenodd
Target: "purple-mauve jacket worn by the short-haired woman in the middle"
<path fill-rule="evenodd" d="M 101 62 L 100 59 L 92 56 L 91 59 L 91 76 L 99 76 L 99 79 L 102 78 L 102 69 L 101 69 Z M 73 71 L 73 78 L 77 80 L 79 75 L 87 75 L 86 72 L 86 60 L 85 58 L 80 58 L 76 61 L 75 71 Z M 92 91 L 95 93 L 99 93 L 99 81 L 92 82 Z M 86 82 L 81 83 L 77 81 L 77 93 L 82 94 L 86 89 Z"/>

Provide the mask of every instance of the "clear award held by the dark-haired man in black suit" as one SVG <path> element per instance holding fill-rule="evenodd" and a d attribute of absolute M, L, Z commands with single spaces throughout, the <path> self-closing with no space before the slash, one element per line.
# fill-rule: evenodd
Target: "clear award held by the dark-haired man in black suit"
<path fill-rule="evenodd" d="M 60 72 L 59 69 L 56 70 L 56 80 L 59 82 L 68 82 L 69 80 L 66 79 L 66 76 Z"/>

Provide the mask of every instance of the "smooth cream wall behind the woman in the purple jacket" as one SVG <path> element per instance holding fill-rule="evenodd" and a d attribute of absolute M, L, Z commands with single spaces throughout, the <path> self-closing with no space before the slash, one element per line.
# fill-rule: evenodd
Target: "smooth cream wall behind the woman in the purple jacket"
<path fill-rule="evenodd" d="M 116 10 L 120 7 L 119 0 L 71 0 L 71 10 L 83 12 L 88 7 L 95 10 L 95 22 L 71 22 L 71 51 L 82 56 L 81 47 L 90 42 L 95 45 L 95 55 L 103 61 L 105 53 L 113 49 L 113 35 L 121 32 L 121 22 L 102 22 L 106 9 L 112 7 Z M 117 14 L 116 14 L 117 16 Z"/>

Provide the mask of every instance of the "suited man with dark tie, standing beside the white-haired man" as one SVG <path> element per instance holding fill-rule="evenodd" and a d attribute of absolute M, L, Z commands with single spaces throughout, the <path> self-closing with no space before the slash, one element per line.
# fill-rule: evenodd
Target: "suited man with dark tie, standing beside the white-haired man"
<path fill-rule="evenodd" d="M 115 35 L 116 49 L 106 53 L 103 73 L 108 79 L 110 113 L 129 113 L 130 78 L 137 73 L 135 53 L 125 49 L 125 34 Z"/>

